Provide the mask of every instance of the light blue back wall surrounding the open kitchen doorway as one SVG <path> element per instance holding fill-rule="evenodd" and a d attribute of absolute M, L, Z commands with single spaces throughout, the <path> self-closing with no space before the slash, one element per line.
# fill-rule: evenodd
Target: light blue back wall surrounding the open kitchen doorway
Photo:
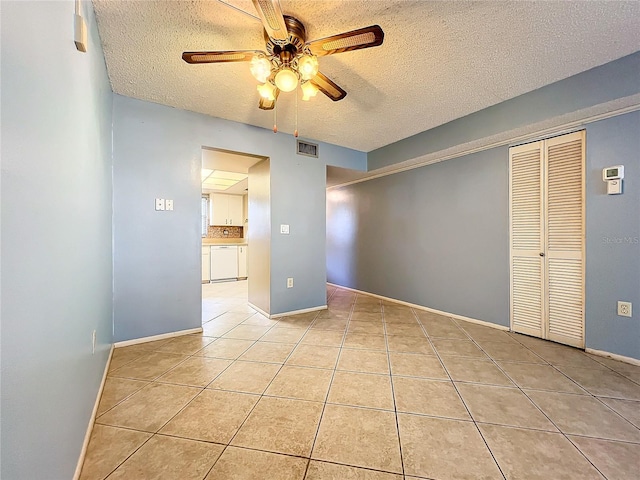
<path fill-rule="evenodd" d="M 288 222 L 299 245 L 291 255 L 283 247 L 291 236 L 271 235 L 270 281 L 278 285 L 269 313 L 326 303 L 326 165 L 364 170 L 366 154 L 323 143 L 320 158 L 302 157 L 292 135 L 119 95 L 113 102 L 116 341 L 200 326 L 203 146 L 270 158 L 272 232 Z M 249 188 L 249 203 L 251 195 Z M 173 199 L 174 210 L 156 212 L 156 197 Z M 287 276 L 296 277 L 295 288 L 274 301 Z"/>

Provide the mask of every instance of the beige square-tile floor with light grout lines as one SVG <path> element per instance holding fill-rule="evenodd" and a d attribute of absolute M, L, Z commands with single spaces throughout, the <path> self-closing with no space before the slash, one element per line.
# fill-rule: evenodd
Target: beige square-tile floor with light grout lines
<path fill-rule="evenodd" d="M 640 367 L 328 288 L 114 351 L 82 479 L 640 478 Z"/>

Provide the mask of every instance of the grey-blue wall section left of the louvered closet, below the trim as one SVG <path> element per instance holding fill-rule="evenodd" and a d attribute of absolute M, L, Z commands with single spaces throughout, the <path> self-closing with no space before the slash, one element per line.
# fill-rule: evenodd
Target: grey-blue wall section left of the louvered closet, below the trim
<path fill-rule="evenodd" d="M 506 147 L 327 197 L 329 282 L 509 325 Z"/>

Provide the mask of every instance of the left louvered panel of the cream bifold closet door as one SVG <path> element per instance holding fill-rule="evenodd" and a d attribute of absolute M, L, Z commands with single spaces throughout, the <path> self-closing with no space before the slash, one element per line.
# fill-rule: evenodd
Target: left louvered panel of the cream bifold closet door
<path fill-rule="evenodd" d="M 536 337 L 544 334 L 542 146 L 509 150 L 511 329 Z"/>

